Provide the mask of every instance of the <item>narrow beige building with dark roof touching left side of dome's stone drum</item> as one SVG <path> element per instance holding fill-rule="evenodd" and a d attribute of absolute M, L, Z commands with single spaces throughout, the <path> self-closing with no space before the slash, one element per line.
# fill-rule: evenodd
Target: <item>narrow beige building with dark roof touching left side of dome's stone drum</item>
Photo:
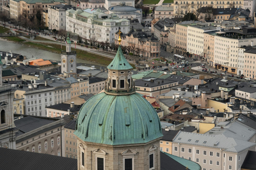
<path fill-rule="evenodd" d="M 77 137 L 74 134 L 76 128 L 76 119 L 64 126 L 65 130 L 65 154 L 63 156 L 77 159 Z"/>

